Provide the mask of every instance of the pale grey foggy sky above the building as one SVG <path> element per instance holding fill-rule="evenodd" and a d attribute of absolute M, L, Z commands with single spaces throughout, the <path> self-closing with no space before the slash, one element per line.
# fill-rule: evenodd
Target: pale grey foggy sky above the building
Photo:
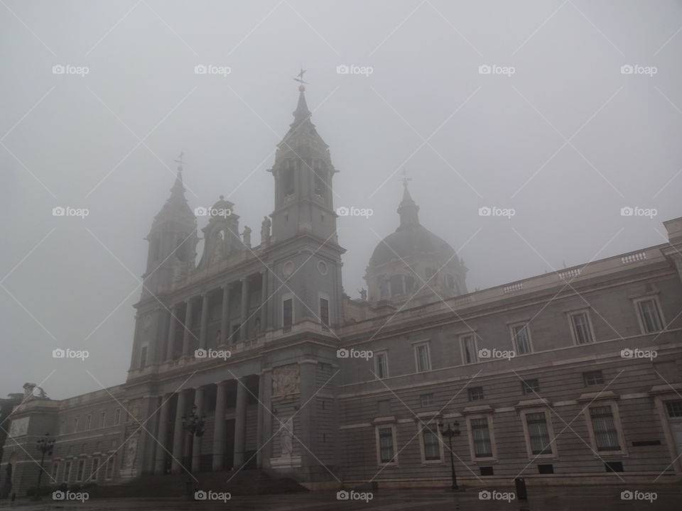
<path fill-rule="evenodd" d="M 403 169 L 470 291 L 665 243 L 682 215 L 681 28 L 665 0 L 0 1 L 0 395 L 125 381 L 144 237 L 180 151 L 190 206 L 224 194 L 259 243 L 301 66 L 335 207 L 374 211 L 338 221 L 351 297 L 398 225 Z M 636 206 L 657 215 L 621 216 Z"/>

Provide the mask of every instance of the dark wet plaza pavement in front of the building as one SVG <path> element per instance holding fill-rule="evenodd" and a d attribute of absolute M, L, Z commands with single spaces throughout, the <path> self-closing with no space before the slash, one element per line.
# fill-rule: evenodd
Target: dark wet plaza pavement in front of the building
<path fill-rule="evenodd" d="M 511 488 L 509 488 L 511 490 Z M 679 510 L 682 488 L 676 485 L 637 488 L 655 492 L 656 500 L 622 500 L 625 488 L 561 487 L 529 488 L 528 502 L 519 500 L 480 500 L 479 490 L 450 493 L 445 490 L 384 490 L 374 493 L 372 500 L 337 500 L 336 493 L 318 492 L 295 495 L 237 496 L 227 502 L 184 502 L 178 499 L 105 499 L 81 502 L 18 502 L 2 509 L 21 511 L 80 510 L 80 511 L 161 511 L 161 510 L 244 510 L 244 511 L 336 511 L 336 510 L 529 510 L 529 511 L 605 511 L 605 510 Z M 634 490 L 634 488 L 632 488 Z"/>

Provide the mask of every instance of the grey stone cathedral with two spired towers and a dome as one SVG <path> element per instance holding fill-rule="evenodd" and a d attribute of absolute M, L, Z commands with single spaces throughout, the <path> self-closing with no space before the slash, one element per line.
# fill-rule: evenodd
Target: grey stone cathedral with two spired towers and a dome
<path fill-rule="evenodd" d="M 256 245 L 229 200 L 188 204 L 180 162 L 125 383 L 65 400 L 27 383 L 0 493 L 36 486 L 45 432 L 51 486 L 263 471 L 311 490 L 443 487 L 451 459 L 480 487 L 681 479 L 682 218 L 661 245 L 471 292 L 405 182 L 353 299 L 343 177 L 303 84 L 269 172 Z"/>

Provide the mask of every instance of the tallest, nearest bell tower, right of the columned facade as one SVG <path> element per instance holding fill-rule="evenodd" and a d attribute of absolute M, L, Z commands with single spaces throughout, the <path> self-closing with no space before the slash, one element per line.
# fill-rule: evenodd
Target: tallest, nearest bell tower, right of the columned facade
<path fill-rule="evenodd" d="M 293 123 L 277 145 L 269 171 L 275 179 L 269 251 L 276 282 L 283 282 L 271 300 L 272 317 L 274 326 L 283 331 L 307 324 L 329 332 L 342 321 L 345 250 L 338 245 L 332 199 L 332 177 L 337 171 L 328 145 L 310 121 L 303 73 L 295 78 L 299 87 Z"/>

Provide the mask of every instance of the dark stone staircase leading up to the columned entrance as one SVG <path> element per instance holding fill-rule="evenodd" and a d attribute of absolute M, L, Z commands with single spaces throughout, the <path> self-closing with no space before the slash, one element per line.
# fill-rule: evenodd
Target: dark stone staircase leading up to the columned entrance
<path fill-rule="evenodd" d="M 290 478 L 275 478 L 261 470 L 200 472 L 191 479 L 194 490 L 229 492 L 232 495 L 272 495 L 308 490 Z M 146 476 L 130 483 L 87 488 L 90 498 L 179 498 L 185 495 L 186 474 Z M 229 480 L 229 483 L 227 482 Z"/>

